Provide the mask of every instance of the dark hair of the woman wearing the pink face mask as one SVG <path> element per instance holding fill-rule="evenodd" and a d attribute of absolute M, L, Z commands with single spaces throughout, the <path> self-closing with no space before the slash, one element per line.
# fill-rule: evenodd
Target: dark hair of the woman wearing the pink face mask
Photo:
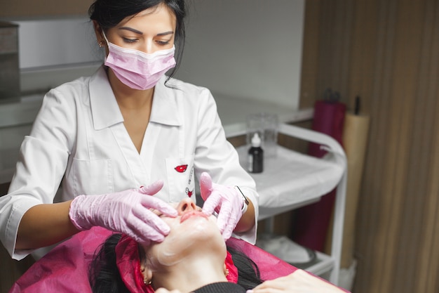
<path fill-rule="evenodd" d="M 164 4 L 170 11 L 173 11 L 177 20 L 175 27 L 175 62 L 177 64 L 169 74 L 169 77 L 173 77 L 182 62 L 184 39 L 186 37 L 184 0 L 95 0 L 88 8 L 88 15 L 90 20 L 95 20 L 105 32 L 118 25 L 123 19 L 148 8 L 154 8 L 158 4 Z"/>

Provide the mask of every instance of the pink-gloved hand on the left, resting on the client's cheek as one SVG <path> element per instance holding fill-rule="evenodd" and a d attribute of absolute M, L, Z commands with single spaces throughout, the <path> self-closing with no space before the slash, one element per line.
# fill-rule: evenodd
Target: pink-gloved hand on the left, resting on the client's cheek
<path fill-rule="evenodd" d="M 70 204 L 69 218 L 79 230 L 101 226 L 125 233 L 143 245 L 149 245 L 151 241 L 161 242 L 170 228 L 150 208 L 167 216 L 177 216 L 176 209 L 151 196 L 162 187 L 163 181 L 157 181 L 147 187 L 119 193 L 79 195 Z"/>

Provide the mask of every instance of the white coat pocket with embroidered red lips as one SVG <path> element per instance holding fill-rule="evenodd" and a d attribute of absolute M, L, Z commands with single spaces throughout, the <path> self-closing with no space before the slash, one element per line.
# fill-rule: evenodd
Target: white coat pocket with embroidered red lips
<path fill-rule="evenodd" d="M 194 155 L 183 158 L 166 158 L 169 198 L 171 202 L 180 202 L 184 197 L 195 199 Z"/>

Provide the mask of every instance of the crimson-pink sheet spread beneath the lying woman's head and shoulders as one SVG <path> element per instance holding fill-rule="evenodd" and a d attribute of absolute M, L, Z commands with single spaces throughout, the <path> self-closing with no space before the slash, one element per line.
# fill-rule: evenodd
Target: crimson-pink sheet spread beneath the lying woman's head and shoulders
<path fill-rule="evenodd" d="M 10 293 L 91 293 L 88 266 L 96 250 L 111 234 L 111 231 L 104 228 L 93 227 L 62 242 L 36 261 L 15 282 Z M 265 280 L 288 275 L 297 269 L 243 240 L 231 238 L 227 244 L 253 259 Z"/>

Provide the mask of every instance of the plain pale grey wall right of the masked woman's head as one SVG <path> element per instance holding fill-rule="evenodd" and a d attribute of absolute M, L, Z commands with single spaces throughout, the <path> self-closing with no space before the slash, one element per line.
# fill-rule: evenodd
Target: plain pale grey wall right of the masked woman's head
<path fill-rule="evenodd" d="M 304 0 L 190 1 L 177 77 L 222 95 L 297 109 Z"/>

